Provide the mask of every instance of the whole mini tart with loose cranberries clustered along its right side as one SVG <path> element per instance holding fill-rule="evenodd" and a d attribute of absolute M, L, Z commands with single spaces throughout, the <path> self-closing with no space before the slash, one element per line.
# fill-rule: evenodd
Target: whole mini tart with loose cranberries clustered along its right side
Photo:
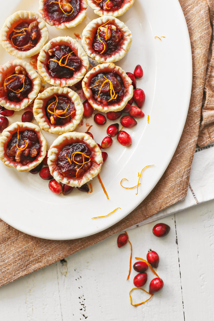
<path fill-rule="evenodd" d="M 82 89 L 91 106 L 104 113 L 122 110 L 133 96 L 131 79 L 113 63 L 92 68 L 83 78 Z"/>

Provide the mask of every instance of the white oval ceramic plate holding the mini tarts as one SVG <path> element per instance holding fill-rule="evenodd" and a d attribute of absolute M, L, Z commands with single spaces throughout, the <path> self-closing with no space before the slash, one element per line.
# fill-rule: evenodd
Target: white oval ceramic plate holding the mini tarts
<path fill-rule="evenodd" d="M 2 5 L 1 25 L 9 14 L 18 10 L 38 12 L 39 1 L 13 0 L 11 6 L 6 2 Z M 77 39 L 95 18 L 98 16 L 88 8 L 86 20 L 73 29 L 56 30 L 48 26 L 49 39 L 60 35 Z M 177 0 L 136 0 L 132 8 L 118 18 L 133 34 L 131 49 L 118 65 L 126 72 L 133 72 L 137 64 L 142 66 L 144 75 L 137 81 L 137 87 L 145 91 L 146 101 L 142 108 L 145 117 L 137 120 L 137 126 L 127 129 L 133 139 L 132 145 L 123 147 L 115 137 L 106 150 L 108 159 L 100 177 L 109 200 L 97 177 L 91 181 L 92 193 L 74 189 L 67 196 L 55 195 L 49 190 L 48 181 L 38 174 L 18 173 L 1 163 L 0 217 L 18 230 L 47 239 L 75 239 L 104 230 L 141 203 L 157 184 L 175 152 L 186 120 L 192 86 L 190 39 L 180 4 Z M 2 47 L 0 57 L 1 64 L 15 59 Z M 9 117 L 10 124 L 21 121 L 22 113 Z M 113 123 L 116 122 L 119 119 Z M 98 126 L 90 117 L 84 119 L 77 130 L 85 132 L 86 123 L 93 125 L 90 131 L 95 141 L 101 143 L 112 122 Z M 43 133 L 49 147 L 57 136 Z M 121 187 L 122 178 L 129 180 L 124 181 L 125 186 L 136 185 L 138 172 L 153 164 L 143 171 L 137 195 L 136 188 Z M 118 207 L 121 209 L 107 217 L 92 219 Z"/>

